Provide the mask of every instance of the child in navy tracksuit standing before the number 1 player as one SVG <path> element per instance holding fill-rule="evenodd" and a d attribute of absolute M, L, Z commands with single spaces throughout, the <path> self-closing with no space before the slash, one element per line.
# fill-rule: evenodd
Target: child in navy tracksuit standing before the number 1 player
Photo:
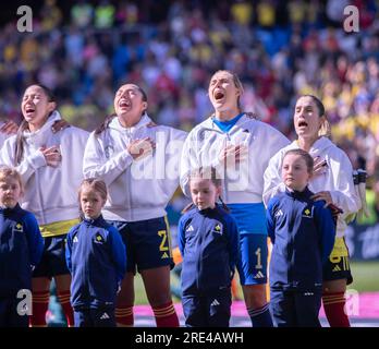
<path fill-rule="evenodd" d="M 239 254 L 236 224 L 228 207 L 216 204 L 221 182 L 213 168 L 195 170 L 190 190 L 194 207 L 184 209 L 178 228 L 185 325 L 228 327 Z"/>

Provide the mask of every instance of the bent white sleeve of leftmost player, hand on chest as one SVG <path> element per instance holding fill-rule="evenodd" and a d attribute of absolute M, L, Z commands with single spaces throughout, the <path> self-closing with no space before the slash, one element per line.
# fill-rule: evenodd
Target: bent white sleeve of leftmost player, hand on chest
<path fill-rule="evenodd" d="M 8 139 L 0 151 L 0 165 L 7 165 L 14 167 L 14 146 L 15 136 Z M 21 174 L 23 183 L 26 183 L 28 179 L 34 174 L 36 169 L 46 166 L 45 156 L 40 151 L 36 151 L 27 157 L 24 157 L 20 165 L 15 167 Z"/>

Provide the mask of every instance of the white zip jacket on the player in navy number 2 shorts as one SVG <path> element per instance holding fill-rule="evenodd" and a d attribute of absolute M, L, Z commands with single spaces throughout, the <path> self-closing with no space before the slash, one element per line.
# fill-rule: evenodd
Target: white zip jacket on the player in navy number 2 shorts
<path fill-rule="evenodd" d="M 166 215 L 166 206 L 179 186 L 186 132 L 151 123 L 145 115 L 133 128 L 123 128 L 115 117 L 103 132 L 89 135 L 83 171 L 85 178 L 96 177 L 107 183 L 106 219 L 137 221 Z M 156 148 L 152 155 L 134 160 L 126 146 L 145 137 L 150 137 Z"/>

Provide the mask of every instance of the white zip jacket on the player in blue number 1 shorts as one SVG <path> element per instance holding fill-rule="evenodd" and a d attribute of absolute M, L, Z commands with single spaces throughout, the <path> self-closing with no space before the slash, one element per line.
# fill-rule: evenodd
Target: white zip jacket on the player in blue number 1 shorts
<path fill-rule="evenodd" d="M 195 127 L 185 141 L 181 161 L 182 190 L 190 196 L 188 173 L 198 167 L 212 166 L 223 179 L 225 203 L 261 203 L 267 165 L 289 143 L 282 133 L 246 115 L 227 133 L 208 118 Z M 245 146 L 247 156 L 237 166 L 225 169 L 218 158 L 227 145 Z"/>

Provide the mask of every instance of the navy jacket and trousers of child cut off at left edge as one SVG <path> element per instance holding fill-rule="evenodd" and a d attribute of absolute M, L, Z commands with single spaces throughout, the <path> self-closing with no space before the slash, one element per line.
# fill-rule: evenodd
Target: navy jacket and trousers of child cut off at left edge
<path fill-rule="evenodd" d="M 19 204 L 0 208 L 0 327 L 27 326 L 27 316 L 16 313 L 21 302 L 16 296 L 21 289 L 32 289 L 32 266 L 39 263 L 42 251 L 35 216 Z"/>

